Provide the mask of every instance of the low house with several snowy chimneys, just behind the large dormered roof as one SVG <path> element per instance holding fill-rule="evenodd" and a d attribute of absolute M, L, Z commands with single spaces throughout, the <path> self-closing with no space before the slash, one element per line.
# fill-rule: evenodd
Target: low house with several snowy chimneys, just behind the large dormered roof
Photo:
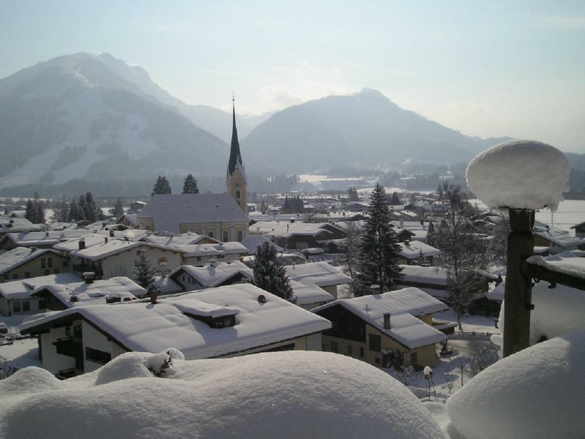
<path fill-rule="evenodd" d="M 111 277 L 108 280 L 94 280 L 92 275 L 84 277 L 81 282 L 40 286 L 31 291 L 30 296 L 42 301 L 46 311 L 125 302 L 146 296 L 146 290 L 128 277 Z"/>

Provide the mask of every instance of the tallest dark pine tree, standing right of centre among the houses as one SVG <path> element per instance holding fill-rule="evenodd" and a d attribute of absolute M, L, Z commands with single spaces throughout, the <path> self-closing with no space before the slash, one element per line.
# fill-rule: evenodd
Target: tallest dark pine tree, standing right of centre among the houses
<path fill-rule="evenodd" d="M 361 258 L 358 279 L 364 287 L 377 284 L 381 291 L 393 289 L 400 279 L 397 244 L 392 228 L 386 191 L 376 184 L 370 194 L 370 205 L 366 209 L 368 218 L 361 242 Z M 365 291 L 360 291 L 364 293 Z"/>

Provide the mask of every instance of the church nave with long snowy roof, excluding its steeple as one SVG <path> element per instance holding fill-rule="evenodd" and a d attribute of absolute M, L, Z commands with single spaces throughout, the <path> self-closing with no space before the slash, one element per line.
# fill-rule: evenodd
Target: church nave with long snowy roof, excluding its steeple
<path fill-rule="evenodd" d="M 228 193 L 155 195 L 137 215 L 139 229 L 195 232 L 223 242 L 241 242 L 250 222 Z"/>

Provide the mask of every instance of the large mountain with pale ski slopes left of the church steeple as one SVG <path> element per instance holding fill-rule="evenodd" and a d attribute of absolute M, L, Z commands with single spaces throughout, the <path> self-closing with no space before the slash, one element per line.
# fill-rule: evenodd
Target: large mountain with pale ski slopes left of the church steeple
<path fill-rule="evenodd" d="M 0 80 L 0 185 L 225 173 L 228 146 L 181 105 L 110 54 L 20 70 Z"/>

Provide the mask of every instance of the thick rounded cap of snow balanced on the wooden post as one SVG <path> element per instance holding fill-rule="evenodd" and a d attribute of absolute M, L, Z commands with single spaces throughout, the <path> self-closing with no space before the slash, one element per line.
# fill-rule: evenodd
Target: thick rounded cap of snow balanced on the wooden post
<path fill-rule="evenodd" d="M 479 153 L 467 166 L 467 186 L 491 208 L 555 211 L 569 190 L 569 160 L 553 146 L 512 140 Z"/>

